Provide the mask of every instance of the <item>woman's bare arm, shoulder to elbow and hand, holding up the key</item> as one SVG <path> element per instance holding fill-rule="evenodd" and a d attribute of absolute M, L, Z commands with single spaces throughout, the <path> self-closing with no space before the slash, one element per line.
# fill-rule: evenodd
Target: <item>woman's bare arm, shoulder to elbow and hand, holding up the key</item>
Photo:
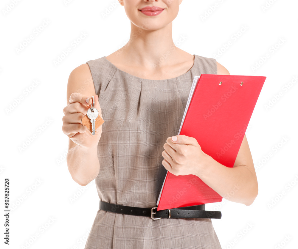
<path fill-rule="evenodd" d="M 69 75 L 67 84 L 67 103 L 63 109 L 63 133 L 69 137 L 67 166 L 72 179 L 81 186 L 87 185 L 99 173 L 100 164 L 97 157 L 97 145 L 102 133 L 102 125 L 95 130 L 95 135 L 83 126 L 81 119 L 91 107 L 91 96 L 94 96 L 94 107 L 101 115 L 98 95 L 95 93 L 92 75 L 87 63 L 75 68 Z M 89 102 L 86 103 L 86 99 Z"/>

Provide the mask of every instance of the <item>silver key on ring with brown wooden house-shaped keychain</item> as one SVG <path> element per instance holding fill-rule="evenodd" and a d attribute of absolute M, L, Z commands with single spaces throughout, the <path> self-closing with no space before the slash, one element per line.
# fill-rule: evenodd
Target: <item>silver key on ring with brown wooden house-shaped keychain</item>
<path fill-rule="evenodd" d="M 94 108 L 94 96 L 92 98 L 92 107 L 88 109 L 87 114 L 81 119 L 82 125 L 95 135 L 95 130 L 100 127 L 105 121 L 99 116 L 98 110 Z"/>

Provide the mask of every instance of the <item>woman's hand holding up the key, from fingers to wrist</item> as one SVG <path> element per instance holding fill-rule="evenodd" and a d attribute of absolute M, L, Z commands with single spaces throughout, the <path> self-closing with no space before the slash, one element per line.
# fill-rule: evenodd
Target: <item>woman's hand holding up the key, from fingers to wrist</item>
<path fill-rule="evenodd" d="M 94 101 L 92 100 L 92 97 L 94 98 Z M 102 124 L 99 125 L 100 120 L 104 122 L 101 116 L 101 108 L 98 103 L 98 95 L 95 94 L 92 97 L 74 92 L 70 95 L 68 105 L 63 109 L 63 133 L 66 134 L 74 143 L 81 145 L 84 148 L 97 146 L 102 133 Z M 86 99 L 88 98 L 89 102 L 86 103 Z M 94 119 L 94 135 L 92 135 L 92 124 L 86 115 L 88 110 L 92 109 L 93 103 L 94 110 L 96 109 L 98 111 L 97 120 L 95 121 Z M 88 122 L 87 126 L 82 125 L 82 118 L 84 116 L 86 116 L 85 118 Z"/>

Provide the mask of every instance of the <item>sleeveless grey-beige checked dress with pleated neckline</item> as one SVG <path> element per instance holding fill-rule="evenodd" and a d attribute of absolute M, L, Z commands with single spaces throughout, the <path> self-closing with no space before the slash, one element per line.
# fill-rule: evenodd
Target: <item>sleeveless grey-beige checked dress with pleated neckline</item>
<path fill-rule="evenodd" d="M 163 145 L 178 135 L 195 75 L 217 74 L 213 58 L 194 55 L 183 75 L 149 80 L 119 70 L 105 56 L 86 62 L 99 96 L 103 120 L 97 147 L 100 200 L 156 207 L 167 170 Z M 221 249 L 211 219 L 124 215 L 98 209 L 85 249 Z"/>

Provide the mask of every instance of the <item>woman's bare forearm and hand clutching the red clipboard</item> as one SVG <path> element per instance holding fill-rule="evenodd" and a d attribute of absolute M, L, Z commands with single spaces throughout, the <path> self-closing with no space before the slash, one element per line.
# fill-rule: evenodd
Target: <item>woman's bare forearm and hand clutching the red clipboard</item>
<path fill-rule="evenodd" d="M 223 198 L 249 206 L 258 194 L 257 176 L 246 135 L 240 145 L 233 167 L 218 163 L 204 153 L 198 141 L 186 135 L 167 138 L 164 144 L 162 165 L 170 173 L 178 175 L 193 174 Z"/>

